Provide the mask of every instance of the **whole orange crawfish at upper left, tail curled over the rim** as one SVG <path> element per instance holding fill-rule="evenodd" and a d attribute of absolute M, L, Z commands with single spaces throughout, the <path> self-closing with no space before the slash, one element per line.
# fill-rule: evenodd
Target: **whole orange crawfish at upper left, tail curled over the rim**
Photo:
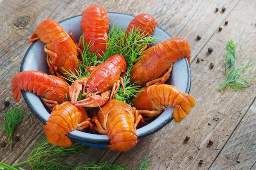
<path fill-rule="evenodd" d="M 69 78 L 66 71 L 72 71 L 75 75 L 79 70 L 77 47 L 70 35 L 62 26 L 54 20 L 43 20 L 29 39 L 29 44 L 40 39 L 46 43 L 44 50 L 47 53 L 47 64 L 51 74 L 56 73 L 58 77 L 65 75 Z"/>

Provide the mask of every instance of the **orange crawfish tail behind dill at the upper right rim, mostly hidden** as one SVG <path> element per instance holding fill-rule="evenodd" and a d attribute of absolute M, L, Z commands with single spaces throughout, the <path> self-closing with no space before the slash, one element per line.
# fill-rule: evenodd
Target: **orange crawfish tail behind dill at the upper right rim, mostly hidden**
<path fill-rule="evenodd" d="M 155 26 L 158 26 L 157 21 L 149 14 L 140 14 L 135 16 L 127 27 L 126 32 L 129 32 L 133 27 L 139 28 L 141 33 L 144 32 L 144 35 L 150 36 L 153 34 Z"/>

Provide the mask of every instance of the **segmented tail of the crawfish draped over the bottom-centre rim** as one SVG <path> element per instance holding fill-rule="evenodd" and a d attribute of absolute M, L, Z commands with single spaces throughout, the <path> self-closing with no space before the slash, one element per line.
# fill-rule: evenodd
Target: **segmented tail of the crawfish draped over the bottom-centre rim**
<path fill-rule="evenodd" d="M 113 108 L 109 113 L 107 134 L 111 150 L 127 151 L 137 144 L 135 123 L 124 108 Z"/>

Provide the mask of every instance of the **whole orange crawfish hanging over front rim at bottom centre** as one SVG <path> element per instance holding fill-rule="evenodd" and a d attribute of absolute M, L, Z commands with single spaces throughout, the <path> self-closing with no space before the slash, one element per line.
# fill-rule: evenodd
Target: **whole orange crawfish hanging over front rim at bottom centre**
<path fill-rule="evenodd" d="M 117 99 L 109 100 L 92 118 L 96 130 L 108 135 L 110 150 L 127 151 L 137 144 L 136 126 L 142 116 L 136 108 Z"/>

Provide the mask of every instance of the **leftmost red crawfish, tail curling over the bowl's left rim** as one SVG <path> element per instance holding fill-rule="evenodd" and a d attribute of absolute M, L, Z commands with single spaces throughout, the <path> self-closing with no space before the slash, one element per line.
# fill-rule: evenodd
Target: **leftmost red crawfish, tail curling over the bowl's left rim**
<path fill-rule="evenodd" d="M 69 84 L 54 75 L 41 71 L 22 71 L 11 81 L 11 91 L 16 102 L 20 101 L 21 91 L 29 91 L 40 96 L 43 103 L 52 109 L 69 97 Z"/>

